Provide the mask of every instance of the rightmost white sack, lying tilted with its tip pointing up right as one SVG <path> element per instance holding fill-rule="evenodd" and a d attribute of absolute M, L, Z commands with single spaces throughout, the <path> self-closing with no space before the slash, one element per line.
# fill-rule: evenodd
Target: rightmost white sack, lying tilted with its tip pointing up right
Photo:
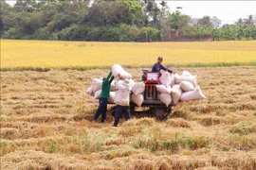
<path fill-rule="evenodd" d="M 191 101 L 191 100 L 199 100 L 199 99 L 205 99 L 207 98 L 201 91 L 199 86 L 196 86 L 196 88 L 193 91 L 182 93 L 180 97 L 180 101 Z"/>

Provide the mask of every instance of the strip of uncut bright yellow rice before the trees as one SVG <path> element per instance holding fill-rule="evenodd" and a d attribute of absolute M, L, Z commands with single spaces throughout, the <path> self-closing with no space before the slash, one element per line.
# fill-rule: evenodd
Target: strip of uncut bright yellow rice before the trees
<path fill-rule="evenodd" d="M 151 66 L 256 65 L 253 42 L 48 42 L 1 40 L 2 70 Z M 34 69 L 35 70 L 35 69 Z"/>

